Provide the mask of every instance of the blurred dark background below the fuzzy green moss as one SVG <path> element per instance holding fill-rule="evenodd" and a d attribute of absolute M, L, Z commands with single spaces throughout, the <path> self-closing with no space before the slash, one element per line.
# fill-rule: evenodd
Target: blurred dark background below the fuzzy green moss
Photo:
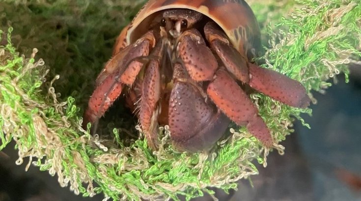
<path fill-rule="evenodd" d="M 313 116 L 304 116 L 311 129 L 295 123 L 295 133 L 282 144 L 285 154 L 272 152 L 267 168 L 239 182 L 238 191 L 220 201 L 361 201 L 361 66 L 351 66 L 348 84 L 344 76 L 326 94 L 314 93 Z M 101 201 L 74 195 L 61 188 L 56 177 L 24 162 L 15 165 L 17 152 L 9 144 L 0 153 L 0 201 Z M 211 201 L 209 196 L 194 201 Z"/>

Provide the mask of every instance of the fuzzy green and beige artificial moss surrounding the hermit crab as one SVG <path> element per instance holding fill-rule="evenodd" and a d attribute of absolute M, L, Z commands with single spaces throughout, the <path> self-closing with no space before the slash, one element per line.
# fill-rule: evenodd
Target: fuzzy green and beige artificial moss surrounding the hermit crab
<path fill-rule="evenodd" d="M 312 90 L 330 86 L 328 80 L 336 74 L 347 76 L 347 63 L 361 56 L 359 0 L 249 2 L 267 49 L 260 58 L 266 61 L 263 66 L 302 82 L 310 96 Z M 270 151 L 243 127 L 230 125 L 232 135 L 212 151 L 197 154 L 175 150 L 167 127 L 160 130 L 165 146 L 151 152 L 131 115 L 118 115 L 116 122 L 106 117 L 104 122 L 110 123 L 103 122 L 102 132 L 108 135 L 101 137 L 81 128 L 94 79 L 109 59 L 117 34 L 141 4 L 0 2 L 0 29 L 5 31 L 0 33 L 0 150 L 14 140 L 17 164 L 37 157 L 34 165 L 57 174 L 60 186 L 70 185 L 83 196 L 178 200 L 179 195 L 202 196 L 202 190 L 212 194 L 206 187 L 236 188 L 234 182 L 258 173 L 254 163 L 266 166 Z M 276 143 L 292 132 L 286 125 L 294 118 L 304 123 L 300 115 L 311 114 L 262 94 L 251 98 Z M 121 104 L 116 107 L 123 114 Z M 275 148 L 283 152 L 281 145 Z"/>

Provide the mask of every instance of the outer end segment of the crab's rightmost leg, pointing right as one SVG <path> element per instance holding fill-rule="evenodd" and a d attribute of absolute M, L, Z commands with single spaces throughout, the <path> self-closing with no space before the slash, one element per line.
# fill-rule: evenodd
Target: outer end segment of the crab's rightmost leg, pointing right
<path fill-rule="evenodd" d="M 250 63 L 250 86 L 275 100 L 297 108 L 306 108 L 310 99 L 305 87 L 276 71 Z"/>

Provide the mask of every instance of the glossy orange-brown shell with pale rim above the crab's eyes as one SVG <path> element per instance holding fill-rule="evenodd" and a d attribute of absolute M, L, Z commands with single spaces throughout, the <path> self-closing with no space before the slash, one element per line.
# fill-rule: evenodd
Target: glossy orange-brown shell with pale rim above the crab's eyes
<path fill-rule="evenodd" d="M 171 8 L 191 9 L 208 16 L 224 30 L 240 53 L 259 51 L 259 27 L 244 0 L 149 0 L 128 27 L 127 45 L 148 30 L 157 12 Z"/>

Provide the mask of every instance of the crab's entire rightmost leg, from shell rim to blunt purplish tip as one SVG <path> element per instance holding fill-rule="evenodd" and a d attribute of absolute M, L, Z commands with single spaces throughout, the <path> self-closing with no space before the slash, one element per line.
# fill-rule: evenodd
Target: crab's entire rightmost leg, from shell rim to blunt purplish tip
<path fill-rule="evenodd" d="M 211 48 L 237 80 L 292 107 L 306 108 L 309 105 L 310 99 L 301 83 L 248 62 L 247 57 L 239 54 L 214 22 L 207 23 L 204 32 Z"/>

